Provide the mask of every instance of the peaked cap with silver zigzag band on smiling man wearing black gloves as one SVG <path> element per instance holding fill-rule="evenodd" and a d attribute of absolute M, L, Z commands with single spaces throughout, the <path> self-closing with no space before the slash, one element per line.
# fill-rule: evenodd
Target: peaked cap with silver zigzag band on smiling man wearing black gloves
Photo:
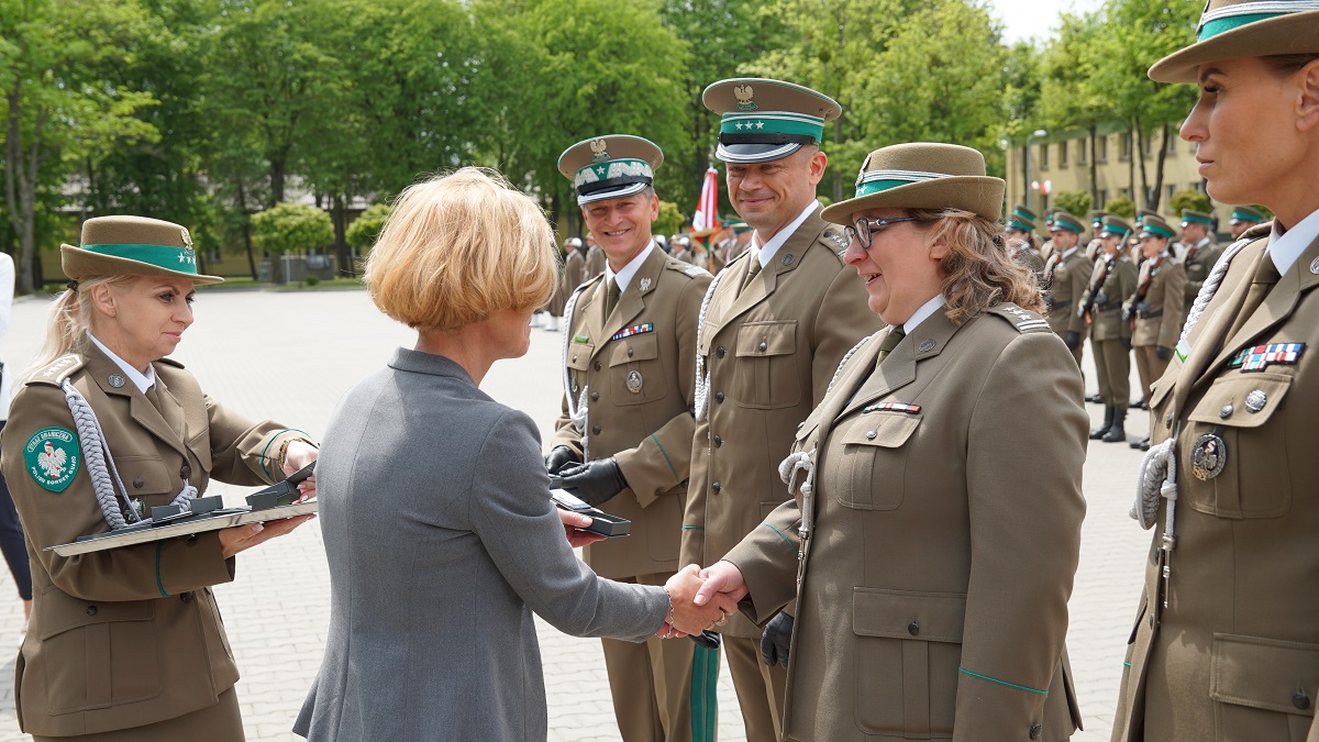
<path fill-rule="evenodd" d="M 559 172 L 572 181 L 578 206 L 641 193 L 662 164 L 656 143 L 625 133 L 586 139 L 559 154 Z"/>

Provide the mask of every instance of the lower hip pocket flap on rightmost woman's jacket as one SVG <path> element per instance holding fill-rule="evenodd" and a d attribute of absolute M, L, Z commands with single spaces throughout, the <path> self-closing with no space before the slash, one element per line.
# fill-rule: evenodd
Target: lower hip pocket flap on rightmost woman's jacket
<path fill-rule="evenodd" d="M 1210 697 L 1224 704 L 1314 716 L 1319 644 L 1213 635 Z"/>

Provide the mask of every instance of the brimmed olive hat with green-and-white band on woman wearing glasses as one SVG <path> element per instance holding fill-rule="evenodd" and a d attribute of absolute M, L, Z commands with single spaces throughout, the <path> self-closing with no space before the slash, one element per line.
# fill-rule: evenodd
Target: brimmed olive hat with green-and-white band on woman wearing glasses
<path fill-rule="evenodd" d="M 852 223 L 867 209 L 962 209 L 991 222 L 1002 214 L 1008 184 L 985 176 L 985 158 L 969 147 L 911 143 L 876 149 L 856 177 L 856 197 L 827 206 L 820 215 Z"/>

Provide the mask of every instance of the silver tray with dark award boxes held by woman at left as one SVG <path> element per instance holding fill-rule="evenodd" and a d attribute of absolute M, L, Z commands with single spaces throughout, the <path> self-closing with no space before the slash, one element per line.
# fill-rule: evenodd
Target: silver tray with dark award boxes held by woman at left
<path fill-rule="evenodd" d="M 46 547 L 45 551 L 69 557 L 317 512 L 315 500 L 297 502 L 301 496 L 298 483 L 311 475 L 315 463 L 310 463 L 290 474 L 288 479 L 248 495 L 245 506 L 224 507 L 223 498 L 210 496 L 197 498 L 186 507 L 175 504 L 153 507 L 150 518 L 128 528 L 78 536 L 71 544 Z"/>

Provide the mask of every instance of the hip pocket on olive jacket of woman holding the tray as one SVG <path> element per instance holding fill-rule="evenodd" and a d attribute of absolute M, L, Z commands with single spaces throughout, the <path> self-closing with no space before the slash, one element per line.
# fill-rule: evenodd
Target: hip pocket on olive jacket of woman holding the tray
<path fill-rule="evenodd" d="M 41 595 L 49 713 L 142 701 L 161 692 L 152 601 L 82 601 L 54 585 Z"/>

